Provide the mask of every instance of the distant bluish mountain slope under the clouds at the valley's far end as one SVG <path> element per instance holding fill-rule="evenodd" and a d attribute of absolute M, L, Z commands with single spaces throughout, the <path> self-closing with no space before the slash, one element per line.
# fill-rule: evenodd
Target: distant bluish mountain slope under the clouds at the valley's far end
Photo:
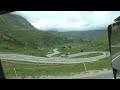
<path fill-rule="evenodd" d="M 106 33 L 106 30 L 88 30 L 88 31 L 67 31 L 67 32 L 58 32 L 58 31 L 47 31 L 56 36 L 62 36 L 67 39 L 71 39 L 74 42 L 87 42 L 95 38 L 101 37 Z"/>

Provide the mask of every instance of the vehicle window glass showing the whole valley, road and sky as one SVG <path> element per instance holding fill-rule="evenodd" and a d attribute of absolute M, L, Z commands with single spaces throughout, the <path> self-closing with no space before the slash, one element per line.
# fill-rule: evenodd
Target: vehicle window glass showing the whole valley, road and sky
<path fill-rule="evenodd" d="M 16 11 L 0 15 L 0 58 L 5 77 L 112 79 L 107 26 L 118 15 L 120 12 L 114 11 Z"/>

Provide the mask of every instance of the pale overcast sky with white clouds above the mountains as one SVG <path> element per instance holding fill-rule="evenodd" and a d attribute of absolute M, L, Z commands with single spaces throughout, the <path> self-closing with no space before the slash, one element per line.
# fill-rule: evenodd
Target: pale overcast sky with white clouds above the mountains
<path fill-rule="evenodd" d="M 40 30 L 94 30 L 107 28 L 120 11 L 16 11 Z"/>

